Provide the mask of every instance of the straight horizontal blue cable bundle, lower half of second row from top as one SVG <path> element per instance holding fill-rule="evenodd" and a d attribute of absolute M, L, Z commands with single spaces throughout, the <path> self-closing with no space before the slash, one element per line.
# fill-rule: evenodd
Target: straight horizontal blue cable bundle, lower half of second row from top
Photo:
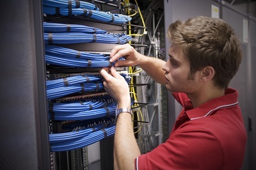
<path fill-rule="evenodd" d="M 124 44 L 131 40 L 131 36 L 125 34 L 91 34 L 91 33 L 44 33 L 45 44 L 54 43 L 118 43 Z"/>

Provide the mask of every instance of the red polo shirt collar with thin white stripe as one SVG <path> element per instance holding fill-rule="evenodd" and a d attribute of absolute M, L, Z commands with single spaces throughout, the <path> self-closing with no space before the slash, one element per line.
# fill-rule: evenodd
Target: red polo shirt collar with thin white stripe
<path fill-rule="evenodd" d="M 185 101 L 185 111 L 190 120 L 195 120 L 198 118 L 204 118 L 208 116 L 212 112 L 222 109 L 225 107 L 232 107 L 237 105 L 237 97 L 238 92 L 236 89 L 228 88 L 225 90 L 225 95 L 223 97 L 214 98 L 209 100 L 208 102 L 196 107 L 195 109 L 191 109 L 191 101 Z"/>

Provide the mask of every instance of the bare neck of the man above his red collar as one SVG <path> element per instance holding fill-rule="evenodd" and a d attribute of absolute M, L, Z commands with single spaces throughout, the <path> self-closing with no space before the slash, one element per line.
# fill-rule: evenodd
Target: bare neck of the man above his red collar
<path fill-rule="evenodd" d="M 213 98 L 222 97 L 225 95 L 225 89 L 220 88 L 201 88 L 195 93 L 187 94 L 193 104 L 193 108 L 198 107 Z"/>

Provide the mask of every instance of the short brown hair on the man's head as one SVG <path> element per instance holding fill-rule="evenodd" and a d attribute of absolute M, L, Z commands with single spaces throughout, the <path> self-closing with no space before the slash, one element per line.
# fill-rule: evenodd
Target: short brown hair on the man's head
<path fill-rule="evenodd" d="M 241 63 L 242 51 L 234 29 L 224 20 L 202 16 L 186 22 L 177 20 L 170 24 L 167 36 L 171 43 L 183 48 L 192 74 L 212 66 L 216 72 L 215 85 L 228 87 Z"/>

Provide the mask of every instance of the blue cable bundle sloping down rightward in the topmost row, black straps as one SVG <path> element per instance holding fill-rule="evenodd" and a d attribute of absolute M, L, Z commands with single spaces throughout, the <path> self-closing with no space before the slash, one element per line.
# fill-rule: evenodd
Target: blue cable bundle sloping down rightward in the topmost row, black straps
<path fill-rule="evenodd" d="M 97 10 L 90 10 L 86 8 L 56 8 L 52 6 L 43 5 L 43 12 L 47 15 L 81 15 L 84 17 L 90 17 L 95 20 L 101 20 L 104 22 L 113 22 L 123 24 L 131 21 L 131 17 L 122 14 L 113 14 L 110 12 L 101 12 Z"/>

